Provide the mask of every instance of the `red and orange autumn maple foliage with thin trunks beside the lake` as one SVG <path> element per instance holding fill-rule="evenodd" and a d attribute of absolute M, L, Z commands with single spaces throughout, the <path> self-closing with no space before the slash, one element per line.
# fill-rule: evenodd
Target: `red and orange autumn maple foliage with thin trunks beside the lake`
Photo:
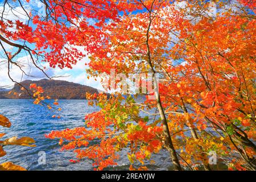
<path fill-rule="evenodd" d="M 109 99 L 87 94 L 89 104 L 101 110 L 86 115 L 86 127 L 46 136 L 60 138 L 62 150 L 74 150 L 79 160 L 94 160 L 96 169 L 117 164 L 118 151 L 124 148 L 129 149 L 131 164 L 141 163 L 130 169 L 146 169 L 152 153 L 166 148 L 175 170 L 196 170 L 197 164 L 212 169 L 210 151 L 230 170 L 255 170 L 253 1 L 44 3 L 45 16 L 28 14 L 33 26 L 2 19 L 0 40 L 18 49 L 13 54 L 5 51 L 8 64 L 15 64 L 14 57 L 26 51 L 53 68 L 72 68 L 85 56 L 76 48 L 80 46 L 90 55 L 91 76 L 110 75 L 114 69 L 126 76 L 146 73 L 154 78 L 155 100 L 147 97 L 143 103 L 122 93 Z M 12 26 L 14 32 L 9 31 Z M 123 85 L 112 86 L 110 90 Z"/>

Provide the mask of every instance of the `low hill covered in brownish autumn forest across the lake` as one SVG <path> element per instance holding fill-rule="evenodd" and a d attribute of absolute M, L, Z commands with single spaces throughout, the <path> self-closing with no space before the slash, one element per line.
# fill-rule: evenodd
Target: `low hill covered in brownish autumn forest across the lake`
<path fill-rule="evenodd" d="M 54 99 L 86 99 L 85 93 L 89 92 L 91 94 L 98 93 L 98 90 L 92 88 L 90 86 L 85 86 L 81 84 L 76 84 L 73 82 L 62 81 L 62 80 L 25 80 L 20 82 L 25 88 L 29 88 L 30 84 L 35 83 L 38 86 L 42 86 L 44 89 L 44 94 L 54 98 Z M 9 94 L 16 93 L 16 94 Z M 1 91 L 0 90 L 0 99 L 1 98 L 13 98 L 13 99 L 28 99 L 31 98 L 25 91 L 20 90 L 20 86 L 18 84 L 14 85 L 14 88 L 9 91 Z"/>

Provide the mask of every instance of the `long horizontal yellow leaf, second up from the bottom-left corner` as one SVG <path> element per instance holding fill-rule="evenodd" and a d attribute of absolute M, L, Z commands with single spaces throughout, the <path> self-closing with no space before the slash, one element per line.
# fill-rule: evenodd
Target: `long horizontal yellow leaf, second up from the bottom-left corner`
<path fill-rule="evenodd" d="M 30 137 L 22 137 L 17 139 L 17 137 L 11 137 L 3 141 L 3 145 L 19 145 L 19 146 L 28 146 L 28 147 L 35 147 L 35 140 Z"/>

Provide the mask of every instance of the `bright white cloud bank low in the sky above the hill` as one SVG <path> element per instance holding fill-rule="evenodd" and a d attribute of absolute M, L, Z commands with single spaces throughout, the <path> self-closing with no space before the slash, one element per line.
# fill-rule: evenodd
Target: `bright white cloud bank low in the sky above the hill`
<path fill-rule="evenodd" d="M 104 90 L 104 88 L 101 85 L 100 78 L 97 78 L 97 80 L 95 80 L 95 78 L 93 77 L 90 77 L 89 79 L 87 78 L 88 75 L 85 72 L 85 63 L 88 62 L 88 60 L 89 59 L 86 57 L 85 59 L 78 61 L 78 63 L 74 65 L 72 69 L 51 68 L 47 69 L 46 73 L 49 76 L 57 76 L 53 78 L 54 80 L 65 80 L 82 85 L 92 86 L 93 88 L 99 90 Z M 27 73 L 27 75 L 30 76 L 22 74 L 22 71 L 20 71 L 18 67 L 13 65 L 10 71 L 10 75 L 14 79 L 14 81 L 20 82 L 24 80 L 41 80 L 43 78 L 46 78 L 46 76 L 38 68 L 28 65 L 30 63 L 29 57 L 20 57 L 16 61 L 23 65 L 23 70 Z M 14 82 L 12 82 L 8 76 L 7 60 L 0 59 L 0 63 L 0 87 L 13 86 Z"/>

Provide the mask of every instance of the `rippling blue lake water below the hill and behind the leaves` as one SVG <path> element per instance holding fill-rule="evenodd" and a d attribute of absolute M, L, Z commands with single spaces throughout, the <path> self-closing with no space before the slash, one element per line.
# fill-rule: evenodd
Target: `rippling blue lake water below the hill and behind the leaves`
<path fill-rule="evenodd" d="M 51 140 L 44 137 L 52 130 L 84 126 L 84 116 L 87 113 L 99 110 L 97 107 L 87 105 L 86 100 L 59 100 L 61 118 L 52 118 L 53 113 L 48 109 L 32 104 L 33 100 L 0 100 L 0 114 L 10 119 L 12 126 L 4 128 L 0 126 L 0 133 L 6 133 L 1 139 L 14 136 L 31 137 L 36 141 L 36 147 L 5 146 L 7 155 L 0 158 L 0 163 L 11 161 L 27 168 L 28 170 L 93 170 L 92 161 L 82 159 L 79 163 L 71 163 L 70 159 L 76 159 L 72 151 L 60 152 L 59 140 Z M 39 164 L 39 152 L 46 152 L 46 164 Z M 109 167 L 110 170 L 129 169 L 130 163 L 126 156 L 126 150 L 119 152 L 118 166 Z M 162 150 L 153 155 L 155 164 L 147 164 L 151 170 L 172 169 L 172 163 L 168 152 Z"/>

